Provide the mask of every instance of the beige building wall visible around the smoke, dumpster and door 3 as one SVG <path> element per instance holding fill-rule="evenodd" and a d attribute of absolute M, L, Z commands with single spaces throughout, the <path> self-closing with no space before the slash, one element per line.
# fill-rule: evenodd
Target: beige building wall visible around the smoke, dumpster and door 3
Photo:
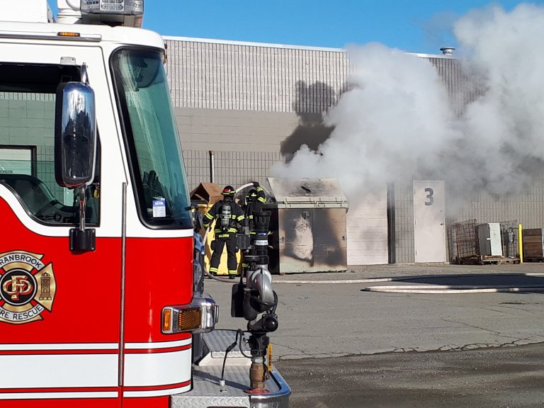
<path fill-rule="evenodd" d="M 173 37 L 165 42 L 190 188 L 209 181 L 209 150 L 215 151 L 217 183 L 263 183 L 273 164 L 287 162 L 304 144 L 317 149 L 331 134 L 322 114 L 348 89 L 349 60 L 344 50 Z M 419 57 L 436 68 L 458 115 L 468 101 L 485 92 L 482 84 L 463 72 L 458 60 Z M 398 263 L 414 261 L 411 183 L 392 182 L 394 240 L 387 242 L 384 186 L 382 196 L 358 209 L 350 203 L 350 264 L 385 263 L 387 251 Z M 471 217 L 482 223 L 507 218 L 543 227 L 540 183 L 535 181 L 527 193 L 511 202 L 475 197 L 457 205 L 455 214 L 448 210 L 450 200 L 446 200 L 447 224 Z"/>

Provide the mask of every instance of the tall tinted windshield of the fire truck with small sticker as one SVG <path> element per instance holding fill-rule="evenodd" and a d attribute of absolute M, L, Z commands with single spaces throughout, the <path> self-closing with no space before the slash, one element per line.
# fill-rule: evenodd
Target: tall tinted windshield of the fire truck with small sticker
<path fill-rule="evenodd" d="M 111 69 L 140 219 L 153 228 L 193 227 L 161 52 L 119 50 Z"/>

